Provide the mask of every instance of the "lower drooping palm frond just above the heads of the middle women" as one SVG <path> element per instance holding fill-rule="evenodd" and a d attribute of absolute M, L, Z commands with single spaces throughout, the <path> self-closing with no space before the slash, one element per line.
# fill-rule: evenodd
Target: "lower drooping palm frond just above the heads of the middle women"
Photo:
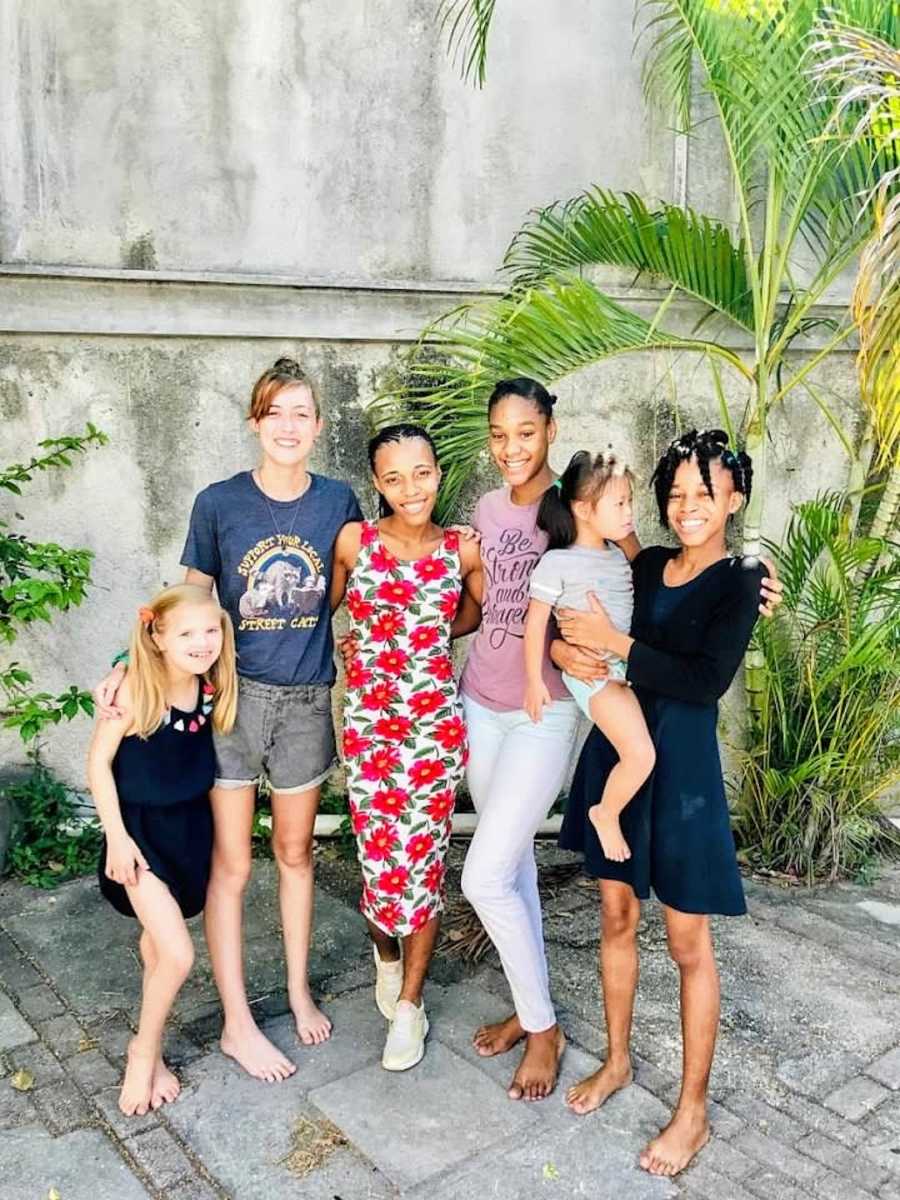
<path fill-rule="evenodd" d="M 661 330 L 587 280 L 560 276 L 455 310 L 432 325 L 407 356 L 400 382 L 379 395 L 373 414 L 377 422 L 406 414 L 431 432 L 444 472 L 443 518 L 486 445 L 487 397 L 498 379 L 530 376 L 548 384 L 619 354 L 662 349 L 715 355 L 749 382 L 732 350 Z"/>

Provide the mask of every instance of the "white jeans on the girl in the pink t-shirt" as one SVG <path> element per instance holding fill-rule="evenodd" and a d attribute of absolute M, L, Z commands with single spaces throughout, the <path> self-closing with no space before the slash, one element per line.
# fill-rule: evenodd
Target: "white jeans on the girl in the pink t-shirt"
<path fill-rule="evenodd" d="M 557 700 L 534 724 L 522 709 L 494 713 L 462 697 L 469 738 L 466 778 L 478 828 L 462 890 L 491 941 L 512 991 L 522 1028 L 556 1024 L 544 952 L 534 835 L 565 780 L 578 708 Z"/>

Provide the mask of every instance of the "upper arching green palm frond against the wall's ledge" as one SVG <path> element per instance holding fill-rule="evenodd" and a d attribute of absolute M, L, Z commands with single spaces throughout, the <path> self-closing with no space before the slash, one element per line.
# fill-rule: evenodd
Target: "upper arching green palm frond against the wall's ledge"
<path fill-rule="evenodd" d="M 533 214 L 504 259 L 514 287 L 530 287 L 582 266 L 612 265 L 676 284 L 686 295 L 752 329 L 746 245 L 712 217 L 634 192 L 592 187 Z"/>

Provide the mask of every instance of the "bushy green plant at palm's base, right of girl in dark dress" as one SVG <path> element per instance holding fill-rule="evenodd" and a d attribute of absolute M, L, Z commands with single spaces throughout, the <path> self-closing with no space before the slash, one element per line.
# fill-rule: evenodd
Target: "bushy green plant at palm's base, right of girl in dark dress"
<path fill-rule="evenodd" d="M 743 857 L 808 881 L 900 850 L 900 546 L 854 534 L 846 498 L 799 504 L 768 547 L 785 602 L 760 622 L 761 715 L 736 810 Z"/>

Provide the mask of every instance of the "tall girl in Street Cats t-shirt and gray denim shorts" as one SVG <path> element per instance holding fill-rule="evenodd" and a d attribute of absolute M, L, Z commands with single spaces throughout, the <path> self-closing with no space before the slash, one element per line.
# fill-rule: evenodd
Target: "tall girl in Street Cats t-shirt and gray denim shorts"
<path fill-rule="evenodd" d="M 323 421 L 316 388 L 296 362 L 278 359 L 260 376 L 248 421 L 262 462 L 199 493 L 181 562 L 187 582 L 215 586 L 238 646 L 238 718 L 229 734 L 215 739 L 205 910 L 224 1009 L 221 1045 L 251 1075 L 276 1081 L 295 1067 L 258 1028 L 244 980 L 241 925 L 257 784 L 266 778 L 271 785 L 288 996 L 298 1037 L 312 1045 L 331 1032 L 307 978 L 313 824 L 322 782 L 336 762 L 329 583 L 337 534 L 362 514 L 347 484 L 307 469 Z M 110 712 L 120 670 L 97 690 L 101 710 Z"/>

